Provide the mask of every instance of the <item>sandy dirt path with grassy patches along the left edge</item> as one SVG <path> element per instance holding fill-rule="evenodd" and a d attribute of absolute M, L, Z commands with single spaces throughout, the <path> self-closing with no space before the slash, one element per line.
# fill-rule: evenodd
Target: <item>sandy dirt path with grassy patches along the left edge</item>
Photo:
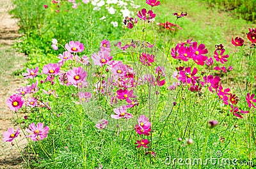
<path fill-rule="evenodd" d="M 26 57 L 11 48 L 18 38 L 19 26 L 17 20 L 11 18 L 8 11 L 13 6 L 10 0 L 0 0 L 0 168 L 24 168 L 19 152 L 10 142 L 2 142 L 3 132 L 8 128 L 17 129 L 15 114 L 6 106 L 8 99 L 15 89 L 22 85 L 22 78 L 15 77 L 14 73 L 22 69 Z M 20 138 L 18 138 L 20 140 Z M 22 144 L 20 142 L 19 144 Z"/>

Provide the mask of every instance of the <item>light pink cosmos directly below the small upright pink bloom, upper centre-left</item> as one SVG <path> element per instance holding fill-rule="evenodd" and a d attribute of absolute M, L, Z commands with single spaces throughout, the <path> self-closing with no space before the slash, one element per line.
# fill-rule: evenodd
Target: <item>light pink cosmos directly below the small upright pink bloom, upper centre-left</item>
<path fill-rule="evenodd" d="M 106 50 L 99 51 L 98 54 L 92 54 L 92 60 L 95 65 L 102 67 L 104 64 L 109 64 L 109 61 L 113 59 L 110 53 Z"/>

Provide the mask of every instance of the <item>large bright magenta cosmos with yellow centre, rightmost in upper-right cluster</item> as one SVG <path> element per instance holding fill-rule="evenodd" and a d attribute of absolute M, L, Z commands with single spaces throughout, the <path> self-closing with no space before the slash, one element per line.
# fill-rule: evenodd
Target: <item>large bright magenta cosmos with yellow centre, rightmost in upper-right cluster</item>
<path fill-rule="evenodd" d="M 193 42 L 192 46 L 190 47 L 191 51 L 193 52 L 192 59 L 195 61 L 196 64 L 204 65 L 204 62 L 208 59 L 205 54 L 208 53 L 207 48 L 205 48 L 205 45 L 201 43 L 197 47 L 197 42 Z"/>

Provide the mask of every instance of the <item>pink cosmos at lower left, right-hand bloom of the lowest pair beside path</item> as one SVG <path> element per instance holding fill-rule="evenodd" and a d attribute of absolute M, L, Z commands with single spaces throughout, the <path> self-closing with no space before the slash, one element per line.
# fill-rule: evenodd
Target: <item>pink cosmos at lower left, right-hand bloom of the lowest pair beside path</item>
<path fill-rule="evenodd" d="M 49 132 L 49 127 L 45 126 L 42 122 L 38 122 L 38 124 L 35 126 L 35 123 L 32 123 L 29 125 L 29 129 L 26 129 L 28 133 L 31 133 L 31 135 L 26 136 L 27 138 L 30 137 L 33 141 L 43 140 L 45 137 L 47 137 L 47 134 Z"/>

